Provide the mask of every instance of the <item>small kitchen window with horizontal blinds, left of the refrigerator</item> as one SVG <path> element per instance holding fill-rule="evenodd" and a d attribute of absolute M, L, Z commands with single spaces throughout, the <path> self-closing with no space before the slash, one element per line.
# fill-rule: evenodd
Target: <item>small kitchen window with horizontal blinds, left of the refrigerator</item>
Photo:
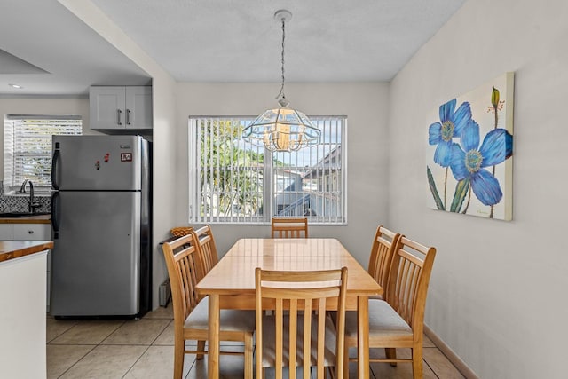
<path fill-rule="evenodd" d="M 4 117 L 4 186 L 20 188 L 24 180 L 51 187 L 51 136 L 82 134 L 81 116 L 20 115 Z"/>

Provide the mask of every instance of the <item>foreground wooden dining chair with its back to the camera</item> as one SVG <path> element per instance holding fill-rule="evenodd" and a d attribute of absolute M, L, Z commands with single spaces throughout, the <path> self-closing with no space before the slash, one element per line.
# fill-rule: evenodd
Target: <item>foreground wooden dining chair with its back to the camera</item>
<path fill-rule="evenodd" d="M 290 272 L 257 267 L 255 277 L 256 378 L 264 378 L 264 369 L 274 367 L 280 379 L 283 367 L 288 367 L 289 377 L 295 379 L 296 367 L 303 367 L 307 379 L 313 366 L 318 378 L 325 377 L 325 367 L 332 376 L 335 367 L 337 377 L 343 378 L 347 268 Z M 327 316 L 327 302 L 337 304 L 336 328 Z M 266 306 L 275 310 L 273 315 L 263 312 Z"/>

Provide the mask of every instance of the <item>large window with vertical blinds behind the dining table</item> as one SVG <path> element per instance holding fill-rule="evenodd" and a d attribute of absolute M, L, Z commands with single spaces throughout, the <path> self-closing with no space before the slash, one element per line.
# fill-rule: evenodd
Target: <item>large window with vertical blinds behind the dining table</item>
<path fill-rule="evenodd" d="M 345 224 L 347 118 L 310 119 L 321 130 L 317 146 L 272 153 L 241 138 L 253 117 L 191 117 L 190 222 L 305 216 L 312 224 Z"/>

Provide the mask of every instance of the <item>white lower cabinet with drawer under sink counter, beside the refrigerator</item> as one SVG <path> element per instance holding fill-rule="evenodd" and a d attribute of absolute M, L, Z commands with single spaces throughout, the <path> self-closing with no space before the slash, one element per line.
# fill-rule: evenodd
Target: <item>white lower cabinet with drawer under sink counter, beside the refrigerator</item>
<path fill-rule="evenodd" d="M 0 224 L 0 240 L 51 241 L 51 224 Z M 47 253 L 47 309 L 50 312 L 51 250 Z"/>

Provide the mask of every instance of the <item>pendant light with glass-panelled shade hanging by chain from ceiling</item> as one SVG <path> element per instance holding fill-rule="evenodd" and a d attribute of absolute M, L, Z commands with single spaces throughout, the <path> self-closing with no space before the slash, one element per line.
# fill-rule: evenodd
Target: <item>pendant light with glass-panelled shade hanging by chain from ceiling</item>
<path fill-rule="evenodd" d="M 282 85 L 276 97 L 280 107 L 268 109 L 256 117 L 256 120 L 243 130 L 243 138 L 256 146 L 264 146 L 273 152 L 296 151 L 304 146 L 317 145 L 321 132 L 300 111 L 288 107 L 284 95 L 284 41 L 286 21 L 292 13 L 280 10 L 274 13 L 274 19 L 282 24 Z"/>

